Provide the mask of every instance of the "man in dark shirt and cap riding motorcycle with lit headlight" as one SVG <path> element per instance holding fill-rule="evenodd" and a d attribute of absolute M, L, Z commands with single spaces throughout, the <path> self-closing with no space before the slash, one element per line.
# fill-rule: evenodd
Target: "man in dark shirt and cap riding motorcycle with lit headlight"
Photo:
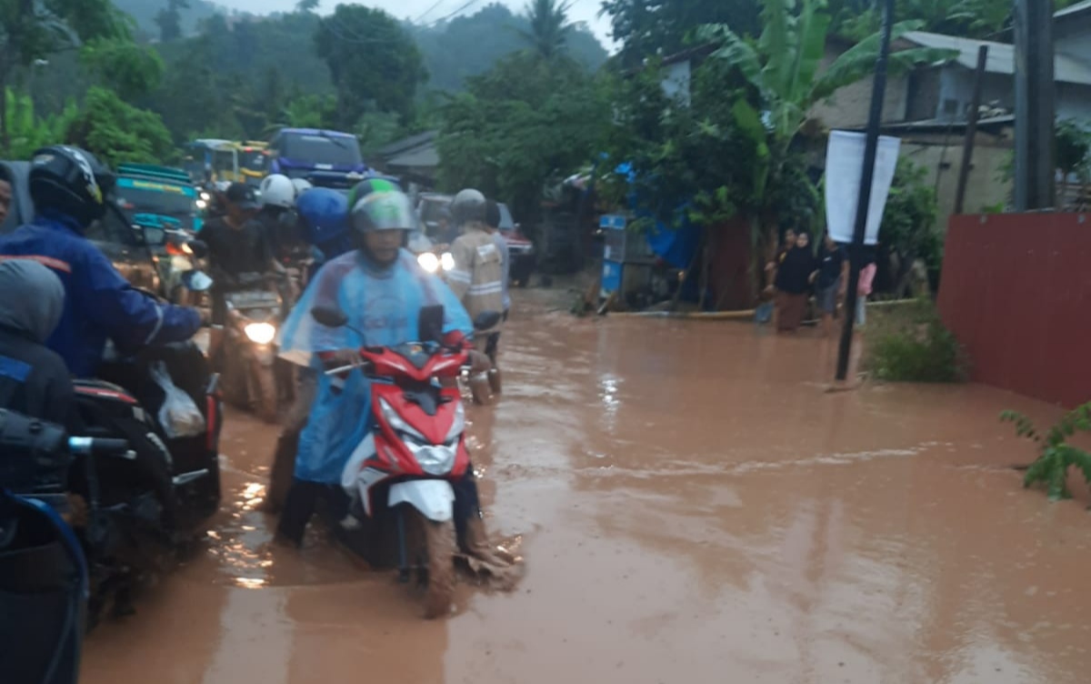
<path fill-rule="evenodd" d="M 208 245 L 208 271 L 214 283 L 212 322 L 216 326 L 223 326 L 227 317 L 226 292 L 252 287 L 257 276 L 278 271 L 268 238 L 256 221 L 250 220 L 259 209 L 254 189 L 244 183 L 231 183 L 224 200 L 225 214 L 209 220 L 201 230 L 201 239 Z M 213 328 L 211 358 L 216 358 L 223 335 L 223 328 Z"/>

